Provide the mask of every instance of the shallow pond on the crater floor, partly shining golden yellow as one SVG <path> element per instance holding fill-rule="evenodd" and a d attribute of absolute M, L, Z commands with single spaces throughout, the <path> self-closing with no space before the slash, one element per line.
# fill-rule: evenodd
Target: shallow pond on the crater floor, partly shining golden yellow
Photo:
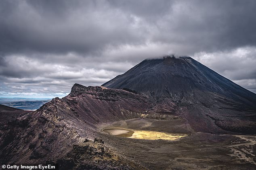
<path fill-rule="evenodd" d="M 180 137 L 185 137 L 184 134 L 172 134 L 172 133 L 163 133 L 157 131 L 141 131 L 141 130 L 128 130 L 128 129 L 104 129 L 104 132 L 107 132 L 111 135 L 129 137 L 134 139 L 164 139 L 164 140 L 175 140 Z"/>

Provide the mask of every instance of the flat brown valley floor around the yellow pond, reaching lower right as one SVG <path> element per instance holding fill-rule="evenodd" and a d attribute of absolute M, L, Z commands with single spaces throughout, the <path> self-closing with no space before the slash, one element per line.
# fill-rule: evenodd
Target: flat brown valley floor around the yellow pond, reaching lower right
<path fill-rule="evenodd" d="M 154 125 L 169 125 L 160 127 Z M 104 128 L 130 128 L 147 131 L 167 131 L 180 127 L 178 120 L 168 123 L 163 120 L 130 119 L 112 124 L 100 125 Z M 166 128 L 166 129 L 165 129 Z M 180 128 L 179 128 L 180 129 Z M 148 169 L 206 169 L 206 170 L 247 170 L 256 169 L 256 136 L 254 135 L 214 135 L 210 133 L 189 133 L 184 128 L 180 132 L 187 137 L 176 140 L 145 140 L 109 135 L 101 131 L 107 147 L 126 156 L 141 167 Z"/>

